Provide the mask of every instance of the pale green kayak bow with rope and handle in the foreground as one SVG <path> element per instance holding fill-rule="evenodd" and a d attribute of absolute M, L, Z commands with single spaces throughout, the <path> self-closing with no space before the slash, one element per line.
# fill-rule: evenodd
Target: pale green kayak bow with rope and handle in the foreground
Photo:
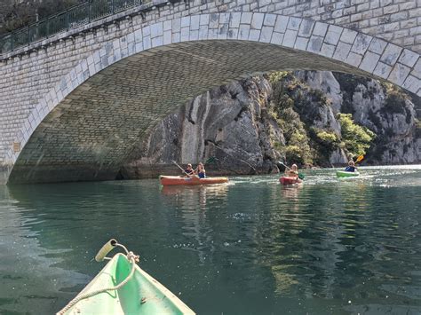
<path fill-rule="evenodd" d="M 139 258 L 139 256 L 134 257 Z M 126 283 L 119 287 L 124 281 Z M 114 289 L 115 287 L 118 288 Z M 98 293 L 98 291 L 104 292 Z M 127 256 L 116 254 L 82 292 L 58 314 L 195 314 L 195 312 L 169 289 L 141 270 L 135 263 L 133 254 L 128 252 Z"/>

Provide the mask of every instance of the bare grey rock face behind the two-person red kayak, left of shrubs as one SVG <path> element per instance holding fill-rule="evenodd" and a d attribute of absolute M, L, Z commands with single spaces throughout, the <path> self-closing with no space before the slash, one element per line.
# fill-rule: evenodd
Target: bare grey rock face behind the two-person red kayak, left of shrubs
<path fill-rule="evenodd" d="M 123 177 L 149 177 L 158 169 L 174 169 L 171 161 L 206 165 L 212 174 L 277 172 L 282 158 L 282 130 L 267 114 L 272 92 L 263 77 L 221 86 L 194 98 L 169 115 L 133 152 Z M 179 170 L 177 170 L 179 173 Z M 170 172 L 171 173 L 171 172 Z"/>

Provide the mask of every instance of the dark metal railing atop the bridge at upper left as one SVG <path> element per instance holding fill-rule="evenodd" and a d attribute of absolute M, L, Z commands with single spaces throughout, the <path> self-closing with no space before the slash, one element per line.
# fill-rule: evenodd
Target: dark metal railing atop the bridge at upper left
<path fill-rule="evenodd" d="M 90 0 L 0 37 L 0 54 L 142 4 L 142 0 Z M 145 1 L 148 2 L 148 1 Z"/>

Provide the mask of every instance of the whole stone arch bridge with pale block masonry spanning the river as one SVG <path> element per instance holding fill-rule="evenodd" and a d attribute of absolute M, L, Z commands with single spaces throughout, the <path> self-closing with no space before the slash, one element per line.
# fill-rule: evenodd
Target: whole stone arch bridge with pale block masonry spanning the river
<path fill-rule="evenodd" d="M 0 55 L 0 183 L 112 179 L 175 106 L 276 70 L 421 96 L 417 0 L 154 0 Z"/>

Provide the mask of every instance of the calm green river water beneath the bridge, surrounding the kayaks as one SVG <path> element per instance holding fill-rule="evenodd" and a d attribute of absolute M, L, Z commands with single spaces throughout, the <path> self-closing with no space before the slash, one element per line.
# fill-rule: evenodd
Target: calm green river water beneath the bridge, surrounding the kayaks
<path fill-rule="evenodd" d="M 421 166 L 0 186 L 0 216 L 0 314 L 60 310 L 112 237 L 199 314 L 421 313 Z"/>

